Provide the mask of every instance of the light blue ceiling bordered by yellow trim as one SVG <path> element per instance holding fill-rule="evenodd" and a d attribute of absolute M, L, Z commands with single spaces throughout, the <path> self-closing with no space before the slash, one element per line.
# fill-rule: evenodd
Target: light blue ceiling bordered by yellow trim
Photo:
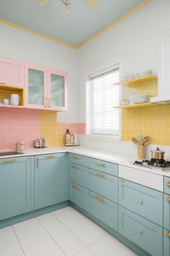
<path fill-rule="evenodd" d="M 39 33 L 78 45 L 143 0 L 99 0 L 91 10 L 84 0 L 70 0 L 70 12 L 61 0 L 39 7 L 34 0 L 0 0 L 0 18 Z"/>

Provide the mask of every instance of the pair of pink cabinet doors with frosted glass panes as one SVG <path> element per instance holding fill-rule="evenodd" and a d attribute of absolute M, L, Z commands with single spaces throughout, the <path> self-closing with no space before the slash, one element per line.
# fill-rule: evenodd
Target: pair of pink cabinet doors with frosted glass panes
<path fill-rule="evenodd" d="M 55 111 L 67 110 L 65 72 L 35 64 L 25 64 L 25 105 Z"/>

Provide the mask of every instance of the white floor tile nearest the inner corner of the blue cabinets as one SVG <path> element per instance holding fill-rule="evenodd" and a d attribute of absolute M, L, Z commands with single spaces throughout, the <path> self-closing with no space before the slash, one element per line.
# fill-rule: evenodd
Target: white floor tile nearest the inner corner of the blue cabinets
<path fill-rule="evenodd" d="M 86 245 L 107 234 L 104 229 L 71 207 L 56 210 L 53 214 Z"/>

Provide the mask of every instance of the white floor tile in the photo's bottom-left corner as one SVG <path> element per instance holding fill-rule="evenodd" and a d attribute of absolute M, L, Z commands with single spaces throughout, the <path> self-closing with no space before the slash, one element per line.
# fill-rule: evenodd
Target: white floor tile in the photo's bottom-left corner
<path fill-rule="evenodd" d="M 12 226 L 0 229 L 0 255 L 1 256 L 23 256 L 22 248 L 19 245 L 17 236 Z"/>

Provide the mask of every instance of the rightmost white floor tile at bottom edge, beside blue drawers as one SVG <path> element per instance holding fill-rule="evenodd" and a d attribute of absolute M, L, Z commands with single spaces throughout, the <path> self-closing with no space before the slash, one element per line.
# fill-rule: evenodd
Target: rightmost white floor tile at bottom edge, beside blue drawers
<path fill-rule="evenodd" d="M 109 234 L 90 244 L 88 248 L 95 256 L 137 256 L 135 252 Z"/>

